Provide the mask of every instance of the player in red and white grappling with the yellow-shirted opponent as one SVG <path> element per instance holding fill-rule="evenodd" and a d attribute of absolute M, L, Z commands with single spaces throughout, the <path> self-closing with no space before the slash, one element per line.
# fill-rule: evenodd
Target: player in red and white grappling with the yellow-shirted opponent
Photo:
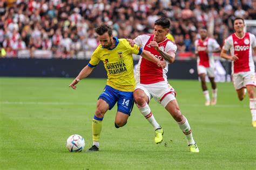
<path fill-rule="evenodd" d="M 170 21 L 167 18 L 159 18 L 154 23 L 154 32 L 151 35 L 140 35 L 134 40 L 128 39 L 130 44 L 134 43 L 143 47 L 144 50 L 151 52 L 159 60 L 166 62 L 164 69 L 157 68 L 157 65 L 148 62 L 140 57 L 136 71 L 136 88 L 133 92 L 134 100 L 139 111 L 149 121 L 155 130 L 155 142 L 159 144 L 163 141 L 163 128 L 157 123 L 150 107 L 149 100 L 154 98 L 158 103 L 163 105 L 165 109 L 177 121 L 180 129 L 186 135 L 187 144 L 191 152 L 199 152 L 196 142 L 193 139 L 190 124 L 179 110 L 176 92 L 167 81 L 166 73 L 168 64 L 174 62 L 177 46 L 166 38 L 169 33 Z"/>

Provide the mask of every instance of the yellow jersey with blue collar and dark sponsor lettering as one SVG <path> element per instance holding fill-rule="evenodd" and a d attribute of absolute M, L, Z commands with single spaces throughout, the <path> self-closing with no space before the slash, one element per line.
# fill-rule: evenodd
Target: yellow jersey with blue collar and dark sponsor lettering
<path fill-rule="evenodd" d="M 135 87 L 132 54 L 140 55 L 142 48 L 137 45 L 131 47 L 126 39 L 113 38 L 116 39 L 116 47 L 109 50 L 99 45 L 88 65 L 95 67 L 102 60 L 107 72 L 106 84 L 120 91 L 132 92 Z"/>

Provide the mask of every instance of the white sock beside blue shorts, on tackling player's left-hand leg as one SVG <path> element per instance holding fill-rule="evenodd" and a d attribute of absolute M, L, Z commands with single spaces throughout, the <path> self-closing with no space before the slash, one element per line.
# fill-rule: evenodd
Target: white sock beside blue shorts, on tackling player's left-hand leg
<path fill-rule="evenodd" d="M 151 113 L 149 105 L 145 102 L 142 106 L 137 104 L 140 113 L 144 115 L 144 117 L 149 121 L 149 123 L 154 127 L 154 130 L 157 128 L 161 128 L 161 126 L 157 123 L 156 119 L 154 119 L 153 114 Z"/>

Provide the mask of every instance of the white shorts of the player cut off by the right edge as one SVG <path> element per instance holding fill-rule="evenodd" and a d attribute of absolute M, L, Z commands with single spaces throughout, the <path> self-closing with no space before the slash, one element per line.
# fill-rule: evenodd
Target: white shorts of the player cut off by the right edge
<path fill-rule="evenodd" d="M 232 79 L 233 79 L 233 84 L 234 84 L 235 90 L 242 89 L 243 87 L 246 87 L 247 85 L 256 86 L 254 71 L 233 73 Z"/>

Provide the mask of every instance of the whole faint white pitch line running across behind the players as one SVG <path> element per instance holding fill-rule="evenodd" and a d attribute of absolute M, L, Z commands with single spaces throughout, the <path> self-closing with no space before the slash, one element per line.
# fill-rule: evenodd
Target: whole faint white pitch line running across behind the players
<path fill-rule="evenodd" d="M 15 104 L 15 105 L 96 105 L 95 103 L 71 103 L 71 102 L 44 102 L 44 101 L 0 101 L 0 104 Z M 158 104 L 152 104 L 158 105 Z M 193 107 L 206 107 L 203 104 L 181 104 L 182 106 L 193 106 Z M 207 108 L 214 108 L 214 107 L 249 107 L 248 105 L 223 105 L 217 104 L 214 106 L 207 106 Z"/>

